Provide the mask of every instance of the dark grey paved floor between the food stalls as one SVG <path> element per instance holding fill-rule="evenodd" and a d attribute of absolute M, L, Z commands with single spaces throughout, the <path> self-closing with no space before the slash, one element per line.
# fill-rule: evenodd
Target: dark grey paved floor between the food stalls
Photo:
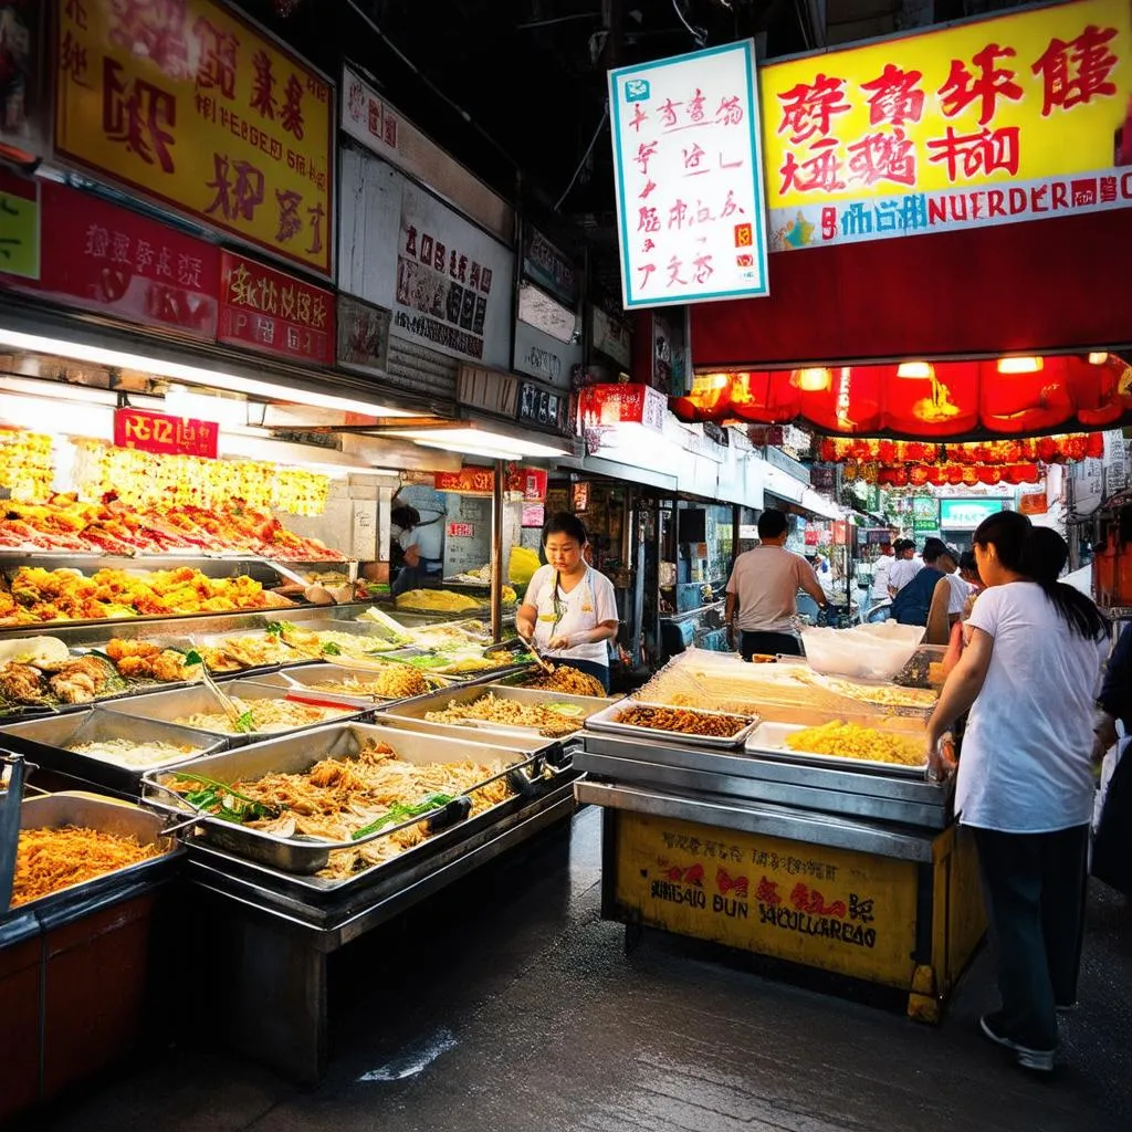
<path fill-rule="evenodd" d="M 1090 900 L 1081 1010 L 1036 1080 L 976 1034 L 989 957 L 945 1022 L 770 980 L 599 915 L 600 815 L 434 900 L 332 971 L 334 1054 L 300 1089 L 161 1046 L 35 1129 L 944 1132 L 1132 1127 L 1132 916 Z M 565 834 L 565 831 L 564 831 Z M 187 980 L 180 979 L 182 992 Z M 269 1004 L 265 1003 L 269 1010 Z"/>

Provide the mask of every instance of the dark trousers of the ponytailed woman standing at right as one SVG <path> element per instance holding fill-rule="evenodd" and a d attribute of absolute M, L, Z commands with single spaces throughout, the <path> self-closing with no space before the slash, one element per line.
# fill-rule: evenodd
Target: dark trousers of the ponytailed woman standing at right
<path fill-rule="evenodd" d="M 975 830 L 998 947 L 997 1029 L 1030 1049 L 1057 1046 L 1056 1006 L 1077 1001 L 1089 826 L 1055 833 Z"/>

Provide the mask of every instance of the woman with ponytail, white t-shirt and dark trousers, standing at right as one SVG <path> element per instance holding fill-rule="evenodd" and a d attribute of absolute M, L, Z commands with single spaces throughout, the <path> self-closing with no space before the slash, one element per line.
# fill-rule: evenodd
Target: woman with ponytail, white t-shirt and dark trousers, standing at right
<path fill-rule="evenodd" d="M 1077 1002 L 1108 624 L 1057 581 L 1069 548 L 1056 531 L 1001 512 L 974 544 L 986 589 L 928 723 L 928 758 L 936 772 L 954 769 L 941 739 L 969 710 L 955 814 L 978 846 L 1002 996 L 980 1028 L 1019 1065 L 1048 1072 L 1057 1011 Z"/>

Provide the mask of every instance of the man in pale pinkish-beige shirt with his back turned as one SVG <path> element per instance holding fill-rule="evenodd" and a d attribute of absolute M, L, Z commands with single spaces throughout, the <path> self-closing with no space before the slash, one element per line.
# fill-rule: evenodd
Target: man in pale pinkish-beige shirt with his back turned
<path fill-rule="evenodd" d="M 809 563 L 787 550 L 786 515 L 764 511 L 758 516 L 758 546 L 739 555 L 727 583 L 728 640 L 735 646 L 738 614 L 739 651 L 744 660 L 755 653 L 803 655 L 801 642 L 794 633 L 798 612 L 798 590 L 805 590 L 821 608 L 826 598 Z"/>

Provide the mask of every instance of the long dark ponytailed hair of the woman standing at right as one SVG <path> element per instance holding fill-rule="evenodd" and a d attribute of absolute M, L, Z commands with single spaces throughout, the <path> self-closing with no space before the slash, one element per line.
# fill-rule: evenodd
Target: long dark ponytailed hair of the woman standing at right
<path fill-rule="evenodd" d="M 1037 582 L 1070 632 L 1094 641 L 1108 632 L 1108 620 L 1094 602 L 1057 581 L 1069 561 L 1069 544 L 1056 531 L 1036 528 L 1017 511 L 1001 511 L 979 524 L 971 541 L 980 547 L 994 543 L 1006 569 Z"/>

